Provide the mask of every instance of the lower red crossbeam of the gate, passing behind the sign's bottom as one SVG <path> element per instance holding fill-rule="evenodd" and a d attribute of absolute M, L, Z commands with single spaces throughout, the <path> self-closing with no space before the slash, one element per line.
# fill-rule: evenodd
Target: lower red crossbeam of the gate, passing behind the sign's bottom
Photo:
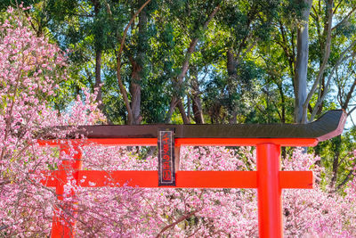
<path fill-rule="evenodd" d="M 43 172 L 41 181 L 46 186 L 60 182 L 58 171 Z M 75 172 L 82 187 L 119 187 L 123 185 L 158 187 L 158 171 L 101 171 L 79 170 Z M 83 182 L 81 182 L 81 180 Z M 312 189 L 312 171 L 279 171 L 280 188 Z M 62 181 L 63 182 L 63 181 Z M 165 186 L 168 187 L 168 186 Z M 177 171 L 174 188 L 257 188 L 256 171 Z"/>

